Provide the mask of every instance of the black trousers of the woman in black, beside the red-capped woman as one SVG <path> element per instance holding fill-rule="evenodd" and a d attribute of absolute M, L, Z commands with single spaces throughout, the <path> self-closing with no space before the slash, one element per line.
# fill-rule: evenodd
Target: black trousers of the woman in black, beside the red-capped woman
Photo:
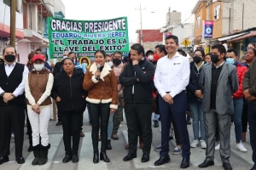
<path fill-rule="evenodd" d="M 66 155 L 78 155 L 83 111 L 59 111 L 63 128 L 63 142 Z M 71 135 L 73 146 L 71 149 Z"/>

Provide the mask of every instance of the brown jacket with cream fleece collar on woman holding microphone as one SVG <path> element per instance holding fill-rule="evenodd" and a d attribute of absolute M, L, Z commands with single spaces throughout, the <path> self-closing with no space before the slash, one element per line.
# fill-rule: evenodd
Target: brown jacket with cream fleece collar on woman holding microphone
<path fill-rule="evenodd" d="M 94 74 L 97 71 L 96 64 L 87 69 L 84 76 L 83 88 L 88 90 L 86 100 L 93 104 L 107 104 L 111 102 L 110 108 L 118 108 L 118 81 L 113 70 L 105 63 L 100 80 L 97 81 Z"/>

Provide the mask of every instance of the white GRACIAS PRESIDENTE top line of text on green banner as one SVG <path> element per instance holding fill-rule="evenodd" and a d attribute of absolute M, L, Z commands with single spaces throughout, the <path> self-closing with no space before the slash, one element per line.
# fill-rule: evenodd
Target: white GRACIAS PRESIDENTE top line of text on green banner
<path fill-rule="evenodd" d="M 101 31 L 126 30 L 125 19 L 105 20 L 105 21 L 84 21 L 75 20 L 51 20 L 52 31 L 78 31 L 86 33 L 96 33 Z"/>

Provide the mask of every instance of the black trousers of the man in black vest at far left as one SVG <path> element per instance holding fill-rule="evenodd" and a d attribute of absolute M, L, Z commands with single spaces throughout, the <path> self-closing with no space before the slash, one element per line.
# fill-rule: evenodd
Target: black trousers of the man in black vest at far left
<path fill-rule="evenodd" d="M 9 156 L 11 130 L 15 133 L 15 156 L 22 156 L 26 106 L 0 106 L 0 156 Z"/>

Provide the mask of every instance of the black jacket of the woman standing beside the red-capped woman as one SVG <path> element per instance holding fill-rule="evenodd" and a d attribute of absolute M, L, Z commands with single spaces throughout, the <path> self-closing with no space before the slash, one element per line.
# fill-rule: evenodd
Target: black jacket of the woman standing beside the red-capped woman
<path fill-rule="evenodd" d="M 61 98 L 60 102 L 56 102 L 58 111 L 84 111 L 87 92 L 83 88 L 84 72 L 82 70 L 74 70 L 73 76 L 68 77 L 65 71 L 61 71 L 55 76 L 51 97 Z M 82 97 L 84 96 L 84 98 Z"/>

